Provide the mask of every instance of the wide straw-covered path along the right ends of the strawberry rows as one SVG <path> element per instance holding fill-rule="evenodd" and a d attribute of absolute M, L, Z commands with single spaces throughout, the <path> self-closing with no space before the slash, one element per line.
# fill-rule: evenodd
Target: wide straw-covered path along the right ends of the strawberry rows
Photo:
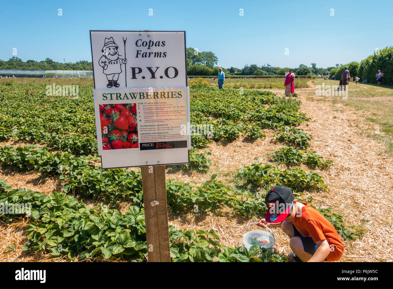
<path fill-rule="evenodd" d="M 324 174 L 331 191 L 319 197 L 320 204 L 336 208 L 350 223 L 365 222 L 364 237 L 345 244 L 345 259 L 392 261 L 392 156 L 381 153 L 384 145 L 377 140 L 359 135 L 353 123 L 363 120 L 353 109 L 301 99 L 302 111 L 312 119 L 303 128 L 315 137 L 309 150 L 335 165 L 334 171 Z"/>

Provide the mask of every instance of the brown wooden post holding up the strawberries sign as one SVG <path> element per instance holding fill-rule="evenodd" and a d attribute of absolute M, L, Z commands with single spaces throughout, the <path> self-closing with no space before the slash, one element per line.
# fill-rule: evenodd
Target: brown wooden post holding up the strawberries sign
<path fill-rule="evenodd" d="M 141 167 L 145 204 L 147 258 L 170 262 L 165 166 Z"/>

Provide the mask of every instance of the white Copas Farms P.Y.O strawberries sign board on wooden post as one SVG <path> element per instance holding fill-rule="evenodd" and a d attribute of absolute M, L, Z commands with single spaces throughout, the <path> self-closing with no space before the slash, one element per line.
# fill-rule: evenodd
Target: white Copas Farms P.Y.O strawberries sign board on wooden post
<path fill-rule="evenodd" d="M 103 168 L 189 162 L 185 31 L 90 31 Z"/>

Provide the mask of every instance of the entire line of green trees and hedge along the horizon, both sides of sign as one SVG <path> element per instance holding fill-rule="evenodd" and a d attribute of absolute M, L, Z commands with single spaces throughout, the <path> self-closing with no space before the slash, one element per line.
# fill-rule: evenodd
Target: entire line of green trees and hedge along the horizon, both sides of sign
<path fill-rule="evenodd" d="M 217 75 L 218 58 L 211 51 L 199 52 L 194 48 L 186 48 L 187 74 L 188 75 Z M 299 67 L 292 68 L 296 75 L 335 75 L 337 79 L 341 78 L 341 72 L 347 66 L 352 77 L 367 78 L 369 82 L 375 82 L 375 74 L 380 69 L 385 73 L 384 83 L 393 84 L 393 47 L 386 47 L 376 51 L 373 55 L 362 60 L 360 63 L 352 61 L 347 64 L 338 64 L 328 68 L 317 68 L 316 63 L 310 66 L 300 64 Z M 42 61 L 28 60 L 26 62 L 18 57 L 12 57 L 8 61 L 0 59 L 0 69 L 22 69 L 22 70 L 93 70 L 90 61 L 81 60 L 76 63 L 60 63 L 46 58 Z M 270 64 L 258 66 L 256 64 L 244 65 L 244 68 L 231 66 L 223 68 L 228 75 L 285 75 L 289 72 L 289 67 L 277 67 Z"/>

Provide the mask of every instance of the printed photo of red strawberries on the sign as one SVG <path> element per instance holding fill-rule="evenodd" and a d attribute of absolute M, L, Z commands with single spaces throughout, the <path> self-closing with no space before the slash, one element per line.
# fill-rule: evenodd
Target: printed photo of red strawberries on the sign
<path fill-rule="evenodd" d="M 138 148 L 135 103 L 99 105 L 103 149 Z"/>

